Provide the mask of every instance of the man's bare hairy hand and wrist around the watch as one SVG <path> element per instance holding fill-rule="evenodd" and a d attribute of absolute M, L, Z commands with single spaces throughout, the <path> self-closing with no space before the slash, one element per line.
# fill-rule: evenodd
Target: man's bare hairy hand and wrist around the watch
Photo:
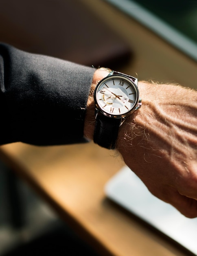
<path fill-rule="evenodd" d="M 95 73 L 94 83 L 104 72 Z M 153 195 L 196 217 L 197 92 L 170 84 L 140 82 L 138 87 L 142 107 L 120 126 L 117 150 Z M 93 110 L 90 95 L 85 135 L 91 139 Z"/>

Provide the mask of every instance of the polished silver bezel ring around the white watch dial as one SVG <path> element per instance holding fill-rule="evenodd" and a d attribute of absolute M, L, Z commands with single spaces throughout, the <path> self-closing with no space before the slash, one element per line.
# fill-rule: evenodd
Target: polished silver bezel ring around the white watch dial
<path fill-rule="evenodd" d="M 96 97 L 98 89 L 99 89 L 101 83 L 103 83 L 103 82 L 105 82 L 105 81 L 107 81 L 109 79 L 111 80 L 113 78 L 120 78 L 120 79 L 126 80 L 128 83 L 130 83 L 132 85 L 132 87 L 134 88 L 134 91 L 136 92 L 136 101 L 135 101 L 133 107 L 129 111 L 127 111 L 127 112 L 125 112 L 124 114 L 121 114 L 121 115 L 113 115 L 113 114 L 109 114 L 108 112 L 105 112 L 99 106 L 99 103 L 98 103 L 97 97 Z M 136 79 L 136 81 L 137 81 L 137 79 Z M 106 76 L 101 81 L 99 81 L 99 83 L 96 85 L 96 88 L 94 90 L 94 102 L 95 102 L 95 105 L 96 105 L 96 112 L 98 113 L 98 111 L 100 111 L 103 115 L 105 115 L 107 117 L 112 117 L 112 118 L 123 118 L 123 117 L 126 117 L 128 114 L 131 114 L 132 112 L 134 112 L 137 109 L 139 101 L 140 101 L 140 96 L 139 96 L 138 86 L 136 85 L 136 83 L 134 83 L 134 81 L 129 79 L 129 77 L 124 76 L 124 75 L 120 75 L 120 74 Z M 97 113 L 95 115 L 97 115 Z"/>

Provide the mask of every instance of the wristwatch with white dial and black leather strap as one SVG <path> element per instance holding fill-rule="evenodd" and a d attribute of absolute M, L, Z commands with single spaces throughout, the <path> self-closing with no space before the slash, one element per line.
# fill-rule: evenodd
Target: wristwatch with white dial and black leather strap
<path fill-rule="evenodd" d="M 94 143 L 108 149 L 116 148 L 118 130 L 126 117 L 142 105 L 138 79 L 111 71 L 94 90 Z"/>

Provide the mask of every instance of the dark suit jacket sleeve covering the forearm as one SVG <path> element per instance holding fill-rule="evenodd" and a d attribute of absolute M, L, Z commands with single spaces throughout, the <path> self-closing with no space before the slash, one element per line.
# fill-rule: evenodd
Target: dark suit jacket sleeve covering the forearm
<path fill-rule="evenodd" d="M 94 69 L 0 44 L 0 144 L 85 142 Z"/>

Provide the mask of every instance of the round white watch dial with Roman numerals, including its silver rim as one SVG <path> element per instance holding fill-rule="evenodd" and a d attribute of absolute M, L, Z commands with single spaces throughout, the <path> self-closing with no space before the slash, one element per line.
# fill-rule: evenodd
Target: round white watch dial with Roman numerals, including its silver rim
<path fill-rule="evenodd" d="M 109 117 L 125 117 L 128 112 L 135 110 L 138 100 L 136 84 L 121 75 L 105 77 L 94 92 L 96 107 Z"/>

